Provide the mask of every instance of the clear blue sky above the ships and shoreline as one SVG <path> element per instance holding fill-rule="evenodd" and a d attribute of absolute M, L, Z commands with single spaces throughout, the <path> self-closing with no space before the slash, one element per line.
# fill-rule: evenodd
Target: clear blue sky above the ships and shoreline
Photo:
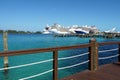
<path fill-rule="evenodd" d="M 0 29 L 43 31 L 54 23 L 120 31 L 120 0 L 0 0 Z"/>

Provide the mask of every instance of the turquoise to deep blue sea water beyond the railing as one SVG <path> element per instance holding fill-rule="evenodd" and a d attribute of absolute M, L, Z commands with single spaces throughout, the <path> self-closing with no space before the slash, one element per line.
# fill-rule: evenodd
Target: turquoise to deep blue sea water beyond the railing
<path fill-rule="evenodd" d="M 108 41 L 120 41 L 120 38 L 116 39 L 105 39 L 105 38 L 96 38 L 98 42 L 108 42 Z M 42 34 L 8 34 L 8 49 L 9 50 L 23 50 L 23 49 L 34 49 L 34 48 L 48 48 L 48 47 L 58 47 L 58 46 L 71 46 L 78 44 L 89 43 L 90 38 L 80 38 L 80 37 L 53 37 L 52 35 L 42 35 Z M 100 46 L 99 50 L 103 49 L 112 49 L 117 48 L 118 45 L 111 46 Z M 0 51 L 3 51 L 3 38 L 0 34 Z M 73 50 L 64 50 L 59 51 L 59 58 L 75 56 L 82 53 L 88 52 L 87 48 L 82 49 L 73 49 Z M 112 51 L 109 53 L 101 53 L 99 57 L 110 56 L 117 54 L 118 51 Z M 29 54 L 29 55 L 20 55 L 20 56 L 10 56 L 9 57 L 9 66 L 17 66 L 23 64 L 29 64 L 33 62 L 39 62 L 43 60 L 52 59 L 52 52 L 45 52 L 43 54 Z M 59 68 L 77 64 L 83 61 L 88 60 L 88 55 L 82 57 L 59 60 Z M 111 58 L 108 60 L 99 60 L 99 65 L 111 63 L 117 61 L 117 58 Z M 52 69 L 52 61 L 36 64 L 27 67 L 21 67 L 16 69 L 9 69 L 7 73 L 0 70 L 0 80 L 19 80 L 29 76 L 37 75 L 42 72 Z M 3 68 L 3 57 L 0 57 L 0 68 Z M 75 66 L 68 69 L 59 70 L 59 79 L 72 75 L 74 73 L 88 69 L 88 64 L 83 64 L 80 66 Z M 36 76 L 28 80 L 52 80 L 52 72 L 44 74 L 42 76 Z"/>

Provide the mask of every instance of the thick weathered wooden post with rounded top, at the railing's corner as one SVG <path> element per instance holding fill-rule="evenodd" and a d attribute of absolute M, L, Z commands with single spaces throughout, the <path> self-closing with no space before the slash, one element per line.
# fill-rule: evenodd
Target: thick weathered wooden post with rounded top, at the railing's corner
<path fill-rule="evenodd" d="M 92 38 L 90 40 L 89 47 L 89 70 L 95 71 L 98 69 L 98 43 L 96 39 Z"/>

